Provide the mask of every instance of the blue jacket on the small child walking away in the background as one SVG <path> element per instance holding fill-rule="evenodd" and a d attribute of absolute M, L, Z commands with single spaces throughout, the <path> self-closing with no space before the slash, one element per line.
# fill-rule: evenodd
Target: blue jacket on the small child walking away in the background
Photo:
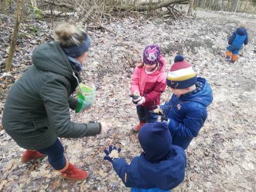
<path fill-rule="evenodd" d="M 246 29 L 238 28 L 233 35 L 229 38 L 229 45 L 233 48 L 240 49 L 242 48 L 243 44 L 248 44 L 248 34 Z"/>

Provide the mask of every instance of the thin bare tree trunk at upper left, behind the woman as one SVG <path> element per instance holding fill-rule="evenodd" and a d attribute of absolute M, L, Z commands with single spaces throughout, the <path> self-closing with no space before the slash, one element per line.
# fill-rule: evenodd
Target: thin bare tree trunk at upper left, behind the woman
<path fill-rule="evenodd" d="M 16 20 L 14 24 L 13 33 L 11 35 L 11 45 L 10 45 L 9 55 L 7 58 L 7 63 L 5 65 L 5 72 L 8 72 L 11 69 L 11 63 L 13 63 L 13 54 L 14 54 L 16 40 L 17 40 L 18 26 L 20 26 L 20 20 L 22 16 L 22 5 L 23 5 L 23 0 L 17 0 Z"/>

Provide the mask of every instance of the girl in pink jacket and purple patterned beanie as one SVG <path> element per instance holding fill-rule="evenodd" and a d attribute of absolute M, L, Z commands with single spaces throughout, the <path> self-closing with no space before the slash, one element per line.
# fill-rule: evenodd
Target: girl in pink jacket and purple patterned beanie
<path fill-rule="evenodd" d="M 131 80 L 132 103 L 137 103 L 140 123 L 133 129 L 140 131 L 144 123 L 153 123 L 158 116 L 149 112 L 152 106 L 160 104 L 161 93 L 166 87 L 166 61 L 158 45 L 148 45 L 143 51 L 143 63 L 134 69 Z M 135 97 L 136 96 L 136 97 Z"/>

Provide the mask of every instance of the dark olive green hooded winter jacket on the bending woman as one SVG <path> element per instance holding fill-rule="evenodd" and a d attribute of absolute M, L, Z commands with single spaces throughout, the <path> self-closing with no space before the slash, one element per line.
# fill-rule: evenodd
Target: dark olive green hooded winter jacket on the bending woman
<path fill-rule="evenodd" d="M 50 147 L 57 137 L 81 138 L 100 132 L 99 123 L 73 123 L 69 107 L 77 81 L 70 61 L 56 43 L 37 47 L 33 66 L 12 86 L 4 107 L 2 125 L 20 147 L 39 150 Z"/>

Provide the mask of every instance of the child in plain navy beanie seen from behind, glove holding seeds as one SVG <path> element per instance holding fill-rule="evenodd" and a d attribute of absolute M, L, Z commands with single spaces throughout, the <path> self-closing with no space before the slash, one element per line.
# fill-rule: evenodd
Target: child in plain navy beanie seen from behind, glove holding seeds
<path fill-rule="evenodd" d="M 119 158 L 121 148 L 110 146 L 104 159 L 109 160 L 115 172 L 132 192 L 163 192 L 177 187 L 185 176 L 186 154 L 183 148 L 172 145 L 167 122 L 146 123 L 138 132 L 143 148 L 130 165 Z"/>

